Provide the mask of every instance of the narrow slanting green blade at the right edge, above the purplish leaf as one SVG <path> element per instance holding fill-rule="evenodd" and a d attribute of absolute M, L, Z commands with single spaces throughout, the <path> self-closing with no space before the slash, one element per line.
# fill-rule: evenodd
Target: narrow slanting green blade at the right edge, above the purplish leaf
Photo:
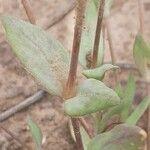
<path fill-rule="evenodd" d="M 146 97 L 144 100 L 141 101 L 141 103 L 137 106 L 134 112 L 128 117 L 126 123 L 130 125 L 136 125 L 136 123 L 144 114 L 149 105 L 150 105 L 150 97 Z"/>

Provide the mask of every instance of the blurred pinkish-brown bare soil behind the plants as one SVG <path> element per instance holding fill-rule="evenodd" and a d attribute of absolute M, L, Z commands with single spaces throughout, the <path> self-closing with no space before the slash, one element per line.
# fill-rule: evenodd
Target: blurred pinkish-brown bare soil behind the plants
<path fill-rule="evenodd" d="M 37 24 L 58 39 L 68 50 L 71 50 L 73 29 L 75 21 L 74 0 L 30 0 Z M 144 37 L 150 41 L 150 1 L 144 1 Z M 0 14 L 13 15 L 28 20 L 21 4 L 21 0 L 0 0 Z M 112 42 L 116 63 L 134 64 L 132 49 L 135 36 L 139 31 L 138 2 L 137 0 L 114 0 L 109 17 L 111 25 Z M 110 62 L 110 52 L 107 37 L 105 38 L 105 62 Z M 122 70 L 119 80 L 122 84 L 130 70 Z M 138 82 L 136 103 L 145 95 L 145 84 L 141 82 L 139 74 L 134 72 Z M 106 78 L 109 86 L 111 74 Z M 113 79 L 113 77 L 111 78 Z M 0 112 L 7 110 L 25 98 L 33 95 L 40 89 L 37 82 L 25 72 L 16 60 L 8 45 L 4 30 L 0 24 Z M 26 110 L 15 114 L 1 124 L 12 131 L 17 137 L 33 149 L 31 135 L 28 132 L 26 119 L 31 115 L 42 128 L 44 150 L 74 150 L 67 118 L 63 114 L 62 104 L 59 100 L 44 97 L 40 102 Z M 143 118 L 144 120 L 145 118 Z M 141 126 L 144 127 L 144 122 Z M 0 149 L 20 150 L 21 147 L 13 138 L 0 131 Z"/>

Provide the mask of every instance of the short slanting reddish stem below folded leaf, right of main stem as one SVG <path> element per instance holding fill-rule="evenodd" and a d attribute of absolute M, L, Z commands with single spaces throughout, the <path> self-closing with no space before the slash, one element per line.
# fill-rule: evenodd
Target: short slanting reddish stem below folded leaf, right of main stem
<path fill-rule="evenodd" d="M 91 128 L 88 126 L 87 122 L 83 118 L 79 118 L 79 122 L 82 125 L 82 127 L 85 129 L 89 137 L 92 139 L 94 137 L 93 131 Z"/>

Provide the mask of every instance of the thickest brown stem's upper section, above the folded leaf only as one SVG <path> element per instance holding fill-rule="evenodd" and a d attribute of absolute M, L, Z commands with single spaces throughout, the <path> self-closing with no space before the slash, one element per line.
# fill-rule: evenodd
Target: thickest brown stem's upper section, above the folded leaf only
<path fill-rule="evenodd" d="M 66 85 L 66 90 L 64 93 L 65 98 L 70 98 L 74 95 L 85 5 L 86 5 L 86 0 L 77 0 L 76 24 L 74 29 L 74 39 L 73 39 L 69 76 Z"/>

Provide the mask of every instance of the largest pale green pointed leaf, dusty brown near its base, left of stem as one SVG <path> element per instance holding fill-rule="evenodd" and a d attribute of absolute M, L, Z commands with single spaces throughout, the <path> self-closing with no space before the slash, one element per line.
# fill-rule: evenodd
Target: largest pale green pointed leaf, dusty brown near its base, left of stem
<path fill-rule="evenodd" d="M 41 28 L 10 16 L 1 18 L 9 44 L 46 90 L 61 96 L 69 70 L 69 54 Z"/>

